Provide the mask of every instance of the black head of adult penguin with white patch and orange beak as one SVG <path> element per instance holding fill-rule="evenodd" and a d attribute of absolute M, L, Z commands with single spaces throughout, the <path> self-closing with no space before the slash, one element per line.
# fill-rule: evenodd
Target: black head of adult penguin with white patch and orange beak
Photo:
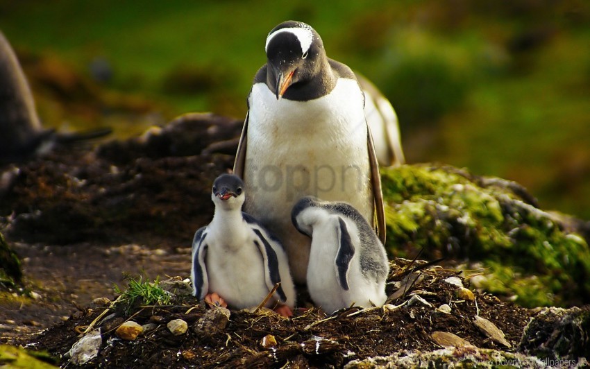
<path fill-rule="evenodd" d="M 292 85 L 304 84 L 320 73 L 326 51 L 319 34 L 302 22 L 287 21 L 269 33 L 266 43 L 267 84 L 277 100 Z"/>

